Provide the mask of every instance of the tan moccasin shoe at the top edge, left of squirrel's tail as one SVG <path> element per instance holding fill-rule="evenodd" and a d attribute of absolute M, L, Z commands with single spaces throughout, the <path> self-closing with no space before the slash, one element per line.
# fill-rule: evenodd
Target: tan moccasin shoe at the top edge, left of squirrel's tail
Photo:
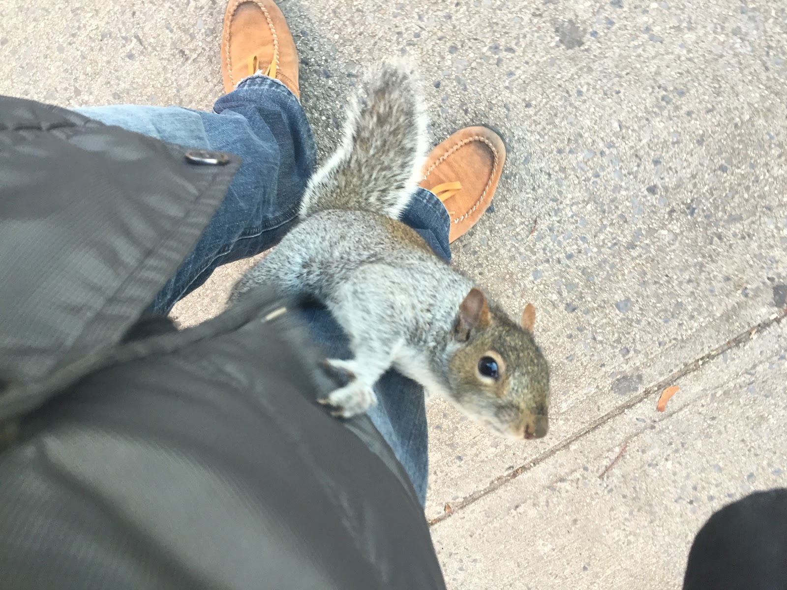
<path fill-rule="evenodd" d="M 230 0 L 221 35 L 224 92 L 257 72 L 280 80 L 300 100 L 295 41 L 279 6 L 272 0 Z"/>

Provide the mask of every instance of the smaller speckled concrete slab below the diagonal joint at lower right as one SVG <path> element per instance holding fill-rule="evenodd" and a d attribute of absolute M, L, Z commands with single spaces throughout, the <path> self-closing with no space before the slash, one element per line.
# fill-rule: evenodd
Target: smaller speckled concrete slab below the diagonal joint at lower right
<path fill-rule="evenodd" d="M 713 511 L 787 485 L 785 349 L 782 322 L 435 525 L 449 588 L 680 588 Z"/>

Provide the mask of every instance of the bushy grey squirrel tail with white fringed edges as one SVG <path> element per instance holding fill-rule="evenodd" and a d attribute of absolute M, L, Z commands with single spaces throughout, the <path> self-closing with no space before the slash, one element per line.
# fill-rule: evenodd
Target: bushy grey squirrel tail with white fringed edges
<path fill-rule="evenodd" d="M 364 79 L 347 113 L 342 146 L 309 180 L 301 217 L 327 209 L 396 219 L 419 181 L 427 119 L 415 73 L 386 63 Z"/>

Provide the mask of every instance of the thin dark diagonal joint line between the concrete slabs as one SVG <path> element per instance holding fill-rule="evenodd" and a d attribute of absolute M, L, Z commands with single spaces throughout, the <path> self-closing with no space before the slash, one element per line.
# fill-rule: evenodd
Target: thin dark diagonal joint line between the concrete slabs
<path fill-rule="evenodd" d="M 770 318 L 764 320 L 763 322 L 758 323 L 756 326 L 752 326 L 747 330 L 741 332 L 736 337 L 726 341 L 725 344 L 718 346 L 711 350 L 710 352 L 706 352 L 703 356 L 700 356 L 693 360 L 690 363 L 685 364 L 683 367 L 678 369 L 678 371 L 674 371 L 672 374 L 667 376 L 667 378 L 663 378 L 660 382 L 657 382 L 650 387 L 645 388 L 642 393 L 638 396 L 632 397 L 630 400 L 626 400 L 624 404 L 620 404 L 617 407 L 612 408 L 606 414 L 597 419 L 593 424 L 589 424 L 582 430 L 579 430 L 573 436 L 568 437 L 567 439 L 563 440 L 560 444 L 550 448 L 548 451 L 541 453 L 535 459 L 516 467 L 514 470 L 508 472 L 507 474 L 503 474 L 497 478 L 494 478 L 490 481 L 489 485 L 486 488 L 479 489 L 477 492 L 471 493 L 470 496 L 467 496 L 463 500 L 457 503 L 449 503 L 446 504 L 445 514 L 441 514 L 438 517 L 432 518 L 428 521 L 429 526 L 434 526 L 439 522 L 445 521 L 453 514 L 456 514 L 459 511 L 464 510 L 468 506 L 473 503 L 478 502 L 484 496 L 488 496 L 490 493 L 494 492 L 495 490 L 501 488 L 503 485 L 508 483 L 508 481 L 512 481 L 515 478 L 518 478 L 520 475 L 526 473 L 527 471 L 533 469 L 535 466 L 544 463 L 547 459 L 551 458 L 552 456 L 556 455 L 560 451 L 568 448 L 571 444 L 574 444 L 579 439 L 584 437 L 587 433 L 595 430 L 598 426 L 609 422 L 611 419 L 618 417 L 619 415 L 623 414 L 624 411 L 630 410 L 632 407 L 640 404 L 642 401 L 648 399 L 648 397 L 655 395 L 656 393 L 661 393 L 663 389 L 669 385 L 673 385 L 679 378 L 684 377 L 687 374 L 693 373 L 697 371 L 700 367 L 702 367 L 705 363 L 708 363 L 711 360 L 717 359 L 719 356 L 722 356 L 725 352 L 733 349 L 739 348 L 744 345 L 746 342 L 752 340 L 755 334 L 763 330 L 767 330 L 770 326 L 777 325 L 787 319 L 787 308 L 781 309 L 775 315 L 771 315 Z"/>

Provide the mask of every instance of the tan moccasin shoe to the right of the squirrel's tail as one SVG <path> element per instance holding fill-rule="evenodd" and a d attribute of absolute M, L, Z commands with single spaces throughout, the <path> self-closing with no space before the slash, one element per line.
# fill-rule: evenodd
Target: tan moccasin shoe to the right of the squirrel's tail
<path fill-rule="evenodd" d="M 456 131 L 429 154 L 420 186 L 448 210 L 449 242 L 473 227 L 490 206 L 504 162 L 503 140 L 486 127 Z"/>

